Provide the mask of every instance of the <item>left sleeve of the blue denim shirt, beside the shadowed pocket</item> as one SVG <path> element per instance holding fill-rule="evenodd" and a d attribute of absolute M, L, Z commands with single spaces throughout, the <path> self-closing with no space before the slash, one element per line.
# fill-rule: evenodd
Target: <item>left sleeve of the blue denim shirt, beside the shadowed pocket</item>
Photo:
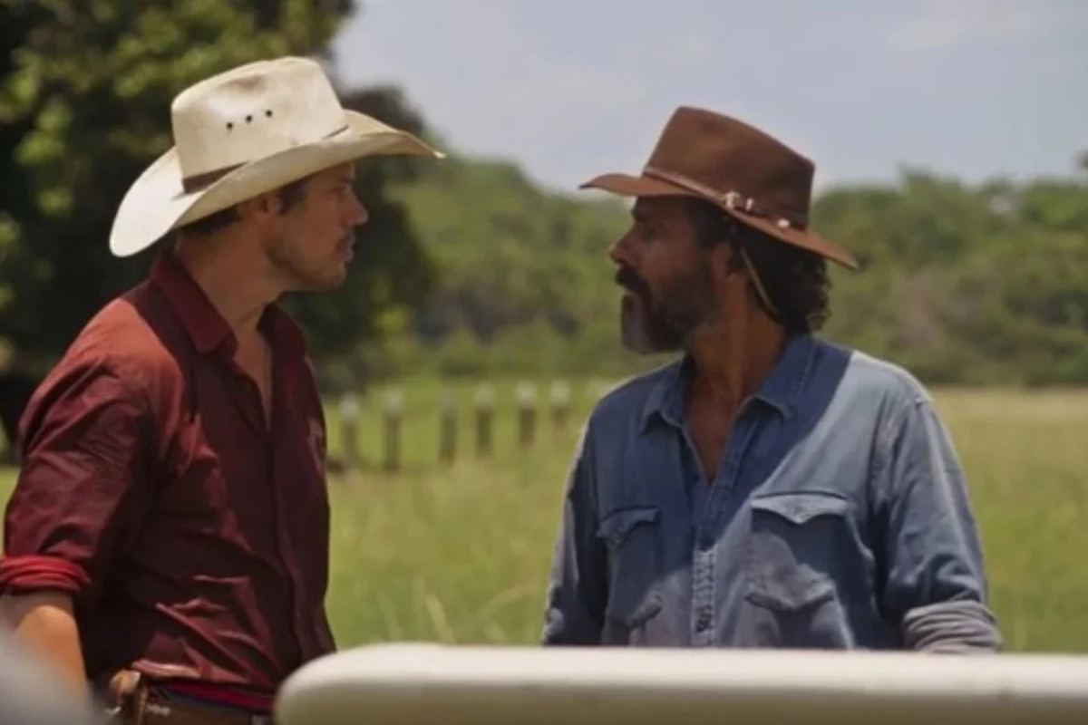
<path fill-rule="evenodd" d="M 544 645 L 598 645 L 607 598 L 604 543 L 597 537 L 589 426 L 576 447 L 552 562 Z"/>

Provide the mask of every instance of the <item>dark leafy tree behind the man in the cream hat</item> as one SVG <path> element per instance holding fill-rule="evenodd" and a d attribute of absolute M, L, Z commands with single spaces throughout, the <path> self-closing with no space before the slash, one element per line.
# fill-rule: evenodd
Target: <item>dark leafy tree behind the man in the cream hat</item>
<path fill-rule="evenodd" d="M 349 0 L 0 0 L 0 337 L 48 364 L 108 299 L 135 284 L 153 251 L 109 255 L 125 190 L 171 145 L 170 103 L 227 67 L 283 54 L 324 57 Z M 327 60 L 327 59 L 325 59 Z M 396 89 L 345 104 L 423 132 Z M 292 300 L 314 348 L 332 354 L 376 335 L 432 282 L 383 187 L 410 164 L 361 170 L 370 245 L 336 295 Z M 400 312 L 401 316 L 405 314 Z"/>

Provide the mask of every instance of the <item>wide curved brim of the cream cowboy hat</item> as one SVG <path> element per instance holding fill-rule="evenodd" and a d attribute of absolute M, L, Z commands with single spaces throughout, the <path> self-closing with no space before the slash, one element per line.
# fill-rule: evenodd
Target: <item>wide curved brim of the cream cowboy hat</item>
<path fill-rule="evenodd" d="M 343 130 L 245 164 L 207 187 L 186 192 L 176 149 L 159 157 L 125 193 L 110 232 L 110 252 L 131 257 L 169 232 L 260 193 L 337 164 L 370 155 L 443 158 L 413 135 L 356 111 L 345 111 Z"/>

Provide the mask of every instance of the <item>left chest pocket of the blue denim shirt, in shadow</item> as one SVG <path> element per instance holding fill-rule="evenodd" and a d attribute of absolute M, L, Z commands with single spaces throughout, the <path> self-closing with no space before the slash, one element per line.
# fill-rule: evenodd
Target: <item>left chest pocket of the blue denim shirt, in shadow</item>
<path fill-rule="evenodd" d="M 660 510 L 630 507 L 607 514 L 597 536 L 608 549 L 608 605 L 604 643 L 631 643 L 662 610 Z"/>

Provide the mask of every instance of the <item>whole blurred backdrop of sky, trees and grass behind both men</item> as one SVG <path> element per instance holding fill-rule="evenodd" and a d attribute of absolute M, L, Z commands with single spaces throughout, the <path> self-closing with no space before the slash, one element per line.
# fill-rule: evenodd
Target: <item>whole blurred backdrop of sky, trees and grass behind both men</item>
<path fill-rule="evenodd" d="M 627 209 L 577 186 L 703 105 L 815 160 L 813 226 L 864 265 L 824 335 L 932 387 L 1010 648 L 1088 651 L 1086 37 L 1079 0 L 0 0 L 3 430 L 146 274 L 107 238 L 174 95 L 321 58 L 450 154 L 361 164 L 348 284 L 287 301 L 327 399 L 339 643 L 535 641 L 581 421 L 664 362 L 619 346 Z"/>

